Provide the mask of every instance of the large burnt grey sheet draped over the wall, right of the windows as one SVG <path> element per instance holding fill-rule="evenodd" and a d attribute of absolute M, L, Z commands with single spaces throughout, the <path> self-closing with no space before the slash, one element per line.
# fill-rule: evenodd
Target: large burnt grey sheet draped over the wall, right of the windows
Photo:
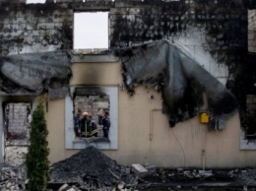
<path fill-rule="evenodd" d="M 122 58 L 123 82 L 131 96 L 137 84 L 159 86 L 162 111 L 171 127 L 198 114 L 204 93 L 213 118 L 228 117 L 237 110 L 235 97 L 224 85 L 174 43 L 160 40 L 115 54 Z"/>

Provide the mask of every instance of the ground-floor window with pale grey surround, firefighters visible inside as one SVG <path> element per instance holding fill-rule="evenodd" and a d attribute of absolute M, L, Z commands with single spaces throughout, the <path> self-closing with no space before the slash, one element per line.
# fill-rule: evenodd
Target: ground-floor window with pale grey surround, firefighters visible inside
<path fill-rule="evenodd" d="M 76 86 L 70 88 L 70 93 L 65 97 L 66 149 L 92 145 L 100 150 L 118 149 L 118 88 Z M 81 126 L 77 125 L 76 116 Z"/>

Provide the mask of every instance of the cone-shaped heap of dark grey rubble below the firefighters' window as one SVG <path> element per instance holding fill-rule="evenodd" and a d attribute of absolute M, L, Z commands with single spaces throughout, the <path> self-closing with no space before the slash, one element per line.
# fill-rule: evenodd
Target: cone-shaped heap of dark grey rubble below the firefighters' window
<path fill-rule="evenodd" d="M 94 147 L 88 147 L 69 159 L 53 163 L 51 183 L 76 183 L 83 189 L 116 187 L 118 183 L 134 185 L 137 177 L 127 173 L 126 167 L 107 158 Z"/>

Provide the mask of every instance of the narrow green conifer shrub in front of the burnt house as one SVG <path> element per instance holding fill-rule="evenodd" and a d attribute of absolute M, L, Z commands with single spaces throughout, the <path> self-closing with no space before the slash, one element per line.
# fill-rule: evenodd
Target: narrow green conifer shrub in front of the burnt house
<path fill-rule="evenodd" d="M 30 132 L 31 145 L 26 158 L 28 190 L 43 191 L 49 181 L 49 149 L 46 140 L 48 135 L 44 117 L 44 101 L 40 97 L 39 103 L 32 113 Z"/>

